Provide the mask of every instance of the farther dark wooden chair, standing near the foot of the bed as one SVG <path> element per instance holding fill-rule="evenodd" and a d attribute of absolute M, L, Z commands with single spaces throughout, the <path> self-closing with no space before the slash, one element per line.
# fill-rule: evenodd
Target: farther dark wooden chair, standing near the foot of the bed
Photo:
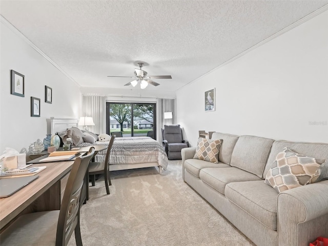
<path fill-rule="evenodd" d="M 113 146 L 114 139 L 115 136 L 112 136 L 111 140 L 109 141 L 105 162 L 90 162 L 89 165 L 89 175 L 91 175 L 92 186 L 95 186 L 96 174 L 104 174 L 107 195 L 110 194 L 109 186 L 112 185 L 111 177 L 109 173 L 109 156 Z"/>

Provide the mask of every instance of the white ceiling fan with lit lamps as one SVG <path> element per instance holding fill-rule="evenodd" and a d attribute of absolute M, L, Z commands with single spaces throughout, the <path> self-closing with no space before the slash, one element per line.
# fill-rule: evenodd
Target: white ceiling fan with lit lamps
<path fill-rule="evenodd" d="M 107 76 L 107 77 L 134 78 L 133 81 L 129 82 L 125 86 L 132 85 L 133 87 L 135 87 L 138 84 L 138 82 L 140 82 L 141 89 L 145 89 L 148 86 L 148 84 L 153 85 L 153 86 L 159 86 L 158 83 L 151 80 L 153 78 L 172 78 L 171 75 L 157 75 L 157 76 L 148 75 L 147 76 L 147 72 L 141 69 L 144 66 L 144 64 L 138 63 L 138 66 L 139 66 L 139 68 L 134 69 L 135 70 L 134 77 L 130 77 L 130 76 Z"/>

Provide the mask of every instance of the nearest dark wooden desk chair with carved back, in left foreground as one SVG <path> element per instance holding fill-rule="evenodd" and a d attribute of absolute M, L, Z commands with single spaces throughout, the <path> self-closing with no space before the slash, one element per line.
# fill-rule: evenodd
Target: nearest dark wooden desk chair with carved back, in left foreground
<path fill-rule="evenodd" d="M 76 245 L 82 246 L 79 200 L 93 154 L 91 147 L 86 156 L 75 159 L 60 210 L 20 216 L 0 235 L 1 245 L 66 246 L 74 231 Z"/>

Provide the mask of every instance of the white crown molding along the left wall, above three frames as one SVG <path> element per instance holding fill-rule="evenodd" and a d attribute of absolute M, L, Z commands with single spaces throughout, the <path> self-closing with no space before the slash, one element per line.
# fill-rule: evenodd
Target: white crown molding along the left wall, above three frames
<path fill-rule="evenodd" d="M 20 32 L 16 27 L 14 27 L 8 20 L 0 15 L 0 21 L 6 27 L 8 27 L 13 33 L 15 33 L 20 39 L 22 39 L 26 44 L 28 44 L 31 48 L 33 48 L 36 52 L 46 58 L 49 63 L 51 63 L 56 69 L 58 69 L 61 73 L 63 73 L 66 77 L 68 77 L 72 82 L 74 82 L 78 87 L 81 87 L 68 73 L 66 73 L 62 68 L 60 68 L 49 56 L 47 56 L 42 50 L 37 48 L 30 39 L 28 39 L 22 32 Z"/>

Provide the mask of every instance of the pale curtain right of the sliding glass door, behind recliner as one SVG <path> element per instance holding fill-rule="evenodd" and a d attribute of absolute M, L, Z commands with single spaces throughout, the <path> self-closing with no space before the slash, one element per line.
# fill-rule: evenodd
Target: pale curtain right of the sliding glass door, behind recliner
<path fill-rule="evenodd" d="M 157 118 L 157 140 L 159 142 L 162 141 L 162 128 L 164 125 L 174 125 L 176 121 L 175 115 L 175 99 L 166 99 L 166 98 L 159 98 L 158 99 L 158 118 Z M 164 112 L 172 112 L 173 118 L 172 119 L 165 119 Z"/>

